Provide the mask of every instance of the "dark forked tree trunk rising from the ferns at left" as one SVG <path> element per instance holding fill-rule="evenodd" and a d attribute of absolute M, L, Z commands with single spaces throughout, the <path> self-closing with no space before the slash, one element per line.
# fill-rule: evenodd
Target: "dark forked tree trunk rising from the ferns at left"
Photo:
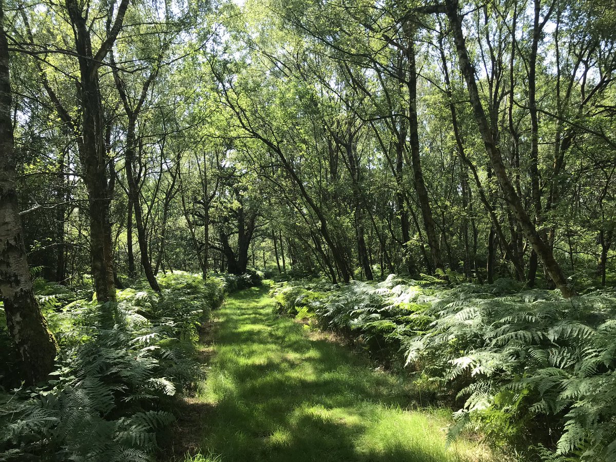
<path fill-rule="evenodd" d="M 68 101 L 63 101 L 64 95 L 59 96 L 59 91 L 53 88 L 45 66 L 52 69 L 55 67 L 48 65 L 44 58 L 39 57 L 39 46 L 35 43 L 28 18 L 23 14 L 29 42 L 26 44 L 29 49 L 25 52 L 32 54 L 36 59 L 44 89 L 60 120 L 76 140 L 81 174 L 88 195 L 92 277 L 97 300 L 105 304 L 115 301 L 114 252 L 110 221 L 110 201 L 115 175 L 111 172 L 114 163 L 108 156 L 111 127 L 103 109 L 99 70 L 105 65 L 103 60 L 120 33 L 129 0 L 121 0 L 115 18 L 113 18 L 115 5 L 108 6 L 106 10 L 99 5 L 104 10 L 103 17 L 107 17 L 107 25 L 103 33 L 104 38 L 97 50 L 92 46 L 93 30 L 87 19 L 89 11 L 86 6 L 76 0 L 67 0 L 63 6 L 72 29 L 74 47 L 74 51 L 68 52 L 67 55 L 75 56 L 78 64 L 78 77 L 69 76 L 70 79 L 76 80 L 74 95 L 78 104 L 76 114 L 70 110 Z M 53 55 L 55 50 L 47 52 Z M 70 100 L 68 97 L 66 99 Z M 105 318 L 107 323 L 113 322 L 110 312 Z"/>

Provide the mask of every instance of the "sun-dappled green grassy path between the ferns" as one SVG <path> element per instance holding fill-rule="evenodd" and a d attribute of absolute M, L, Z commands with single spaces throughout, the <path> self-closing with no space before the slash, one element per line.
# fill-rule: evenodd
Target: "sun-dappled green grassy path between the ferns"
<path fill-rule="evenodd" d="M 201 455 L 221 462 L 477 461 L 476 443 L 445 450 L 448 413 L 405 411 L 393 376 L 273 313 L 267 289 L 215 313 L 213 360 L 198 399 L 213 407 Z"/>

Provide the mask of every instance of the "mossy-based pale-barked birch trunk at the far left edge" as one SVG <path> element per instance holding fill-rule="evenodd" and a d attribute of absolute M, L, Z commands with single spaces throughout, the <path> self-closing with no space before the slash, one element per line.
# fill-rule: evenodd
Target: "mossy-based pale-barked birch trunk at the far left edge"
<path fill-rule="evenodd" d="M 21 359 L 23 379 L 34 384 L 54 370 L 57 343 L 34 298 L 15 190 L 15 146 L 10 117 L 9 50 L 0 2 L 0 296 L 7 327 Z"/>

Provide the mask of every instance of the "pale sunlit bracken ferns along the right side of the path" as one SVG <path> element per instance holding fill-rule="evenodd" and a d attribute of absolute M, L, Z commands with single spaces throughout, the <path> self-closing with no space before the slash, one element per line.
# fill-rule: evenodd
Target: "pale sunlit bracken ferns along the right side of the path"
<path fill-rule="evenodd" d="M 616 460 L 616 293 L 451 281 L 290 282 L 272 294 L 279 312 L 406 367 L 423 399 L 457 405 L 450 439 L 471 428 L 500 447 L 534 444 L 533 460 Z"/>

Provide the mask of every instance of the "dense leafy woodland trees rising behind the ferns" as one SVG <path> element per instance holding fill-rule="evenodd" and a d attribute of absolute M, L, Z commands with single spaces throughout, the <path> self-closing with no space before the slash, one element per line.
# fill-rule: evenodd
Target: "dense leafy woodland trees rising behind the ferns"
<path fill-rule="evenodd" d="M 104 328 L 170 270 L 614 286 L 612 0 L 1 7 L 0 291 L 26 383 L 57 352 L 43 280 L 95 293 Z"/>

